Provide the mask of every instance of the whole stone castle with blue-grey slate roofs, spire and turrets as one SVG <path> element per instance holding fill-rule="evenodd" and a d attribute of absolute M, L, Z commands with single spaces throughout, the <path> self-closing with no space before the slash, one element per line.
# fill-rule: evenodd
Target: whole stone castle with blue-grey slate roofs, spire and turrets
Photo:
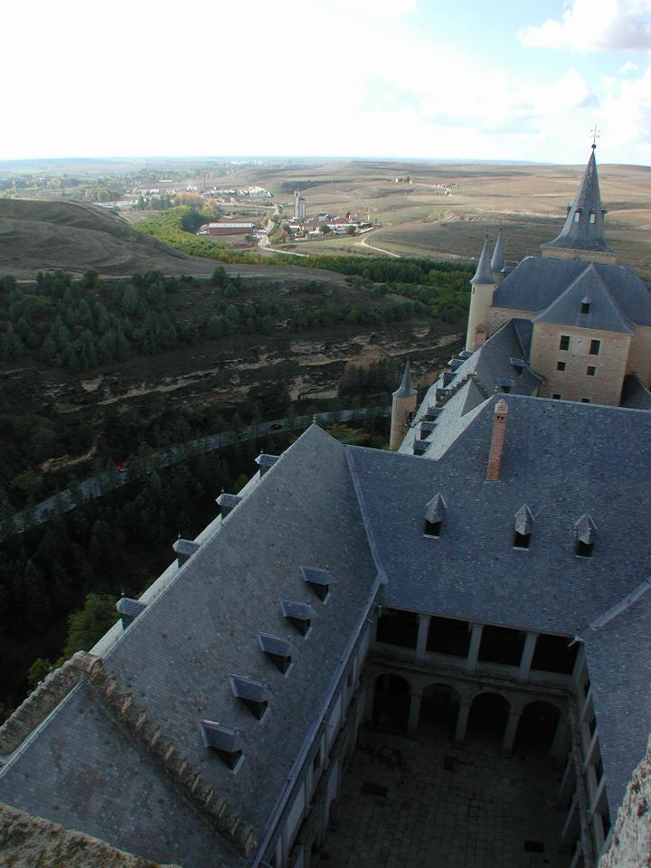
<path fill-rule="evenodd" d="M 617 847 L 651 731 L 651 300 L 603 215 L 593 152 L 542 257 L 486 242 L 418 409 L 405 368 L 397 451 L 312 425 L 260 455 L 0 728 L 0 800 L 156 862 L 309 868 L 363 723 L 428 705 L 505 754 L 544 718 L 554 846 Z"/>

